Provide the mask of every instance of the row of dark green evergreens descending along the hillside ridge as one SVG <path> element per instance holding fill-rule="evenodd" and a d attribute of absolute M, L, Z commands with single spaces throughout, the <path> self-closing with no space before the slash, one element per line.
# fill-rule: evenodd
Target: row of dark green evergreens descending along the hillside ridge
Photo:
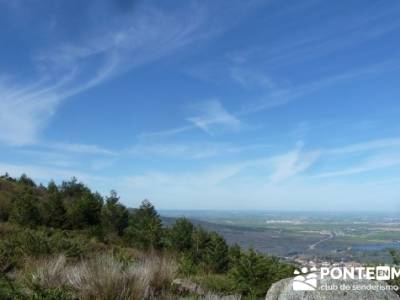
<path fill-rule="evenodd" d="M 164 227 L 155 207 L 144 200 L 128 209 L 115 191 L 106 197 L 76 178 L 60 185 L 37 185 L 26 175 L 0 180 L 0 221 L 32 229 L 87 230 L 105 243 L 118 241 L 143 251 L 177 257 L 182 275 L 229 274 L 235 290 L 261 295 L 269 286 L 291 276 L 292 266 L 256 251 L 228 245 L 217 232 L 179 218 Z"/>

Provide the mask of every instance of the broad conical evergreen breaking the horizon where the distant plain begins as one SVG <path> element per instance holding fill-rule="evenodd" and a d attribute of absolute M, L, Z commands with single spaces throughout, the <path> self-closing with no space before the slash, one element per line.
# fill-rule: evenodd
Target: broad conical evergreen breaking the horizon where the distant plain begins
<path fill-rule="evenodd" d="M 161 247 L 162 222 L 154 206 L 144 200 L 129 218 L 125 230 L 130 243 L 142 249 L 159 249 Z"/>

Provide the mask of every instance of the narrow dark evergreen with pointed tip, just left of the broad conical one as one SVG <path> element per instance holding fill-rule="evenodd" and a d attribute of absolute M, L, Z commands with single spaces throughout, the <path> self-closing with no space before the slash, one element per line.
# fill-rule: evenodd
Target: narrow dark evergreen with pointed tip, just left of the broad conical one
<path fill-rule="evenodd" d="M 101 222 L 106 232 L 115 232 L 121 236 L 128 226 L 129 213 L 125 206 L 118 201 L 117 193 L 112 190 L 102 208 Z"/>

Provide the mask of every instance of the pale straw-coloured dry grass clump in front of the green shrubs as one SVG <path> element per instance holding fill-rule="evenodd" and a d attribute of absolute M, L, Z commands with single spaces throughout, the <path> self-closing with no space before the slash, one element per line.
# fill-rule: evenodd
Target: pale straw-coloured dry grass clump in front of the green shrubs
<path fill-rule="evenodd" d="M 30 281 L 36 289 L 68 287 L 79 299 L 158 299 L 167 293 L 176 269 L 172 260 L 156 255 L 126 264 L 101 254 L 74 265 L 58 256 L 38 262 Z"/>

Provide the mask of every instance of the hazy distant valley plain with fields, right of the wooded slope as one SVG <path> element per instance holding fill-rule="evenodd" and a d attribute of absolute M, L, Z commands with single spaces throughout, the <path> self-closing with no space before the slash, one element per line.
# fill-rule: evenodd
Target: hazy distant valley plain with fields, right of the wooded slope
<path fill-rule="evenodd" d="M 400 217 L 316 212 L 161 211 L 185 216 L 231 243 L 302 262 L 390 262 Z"/>

